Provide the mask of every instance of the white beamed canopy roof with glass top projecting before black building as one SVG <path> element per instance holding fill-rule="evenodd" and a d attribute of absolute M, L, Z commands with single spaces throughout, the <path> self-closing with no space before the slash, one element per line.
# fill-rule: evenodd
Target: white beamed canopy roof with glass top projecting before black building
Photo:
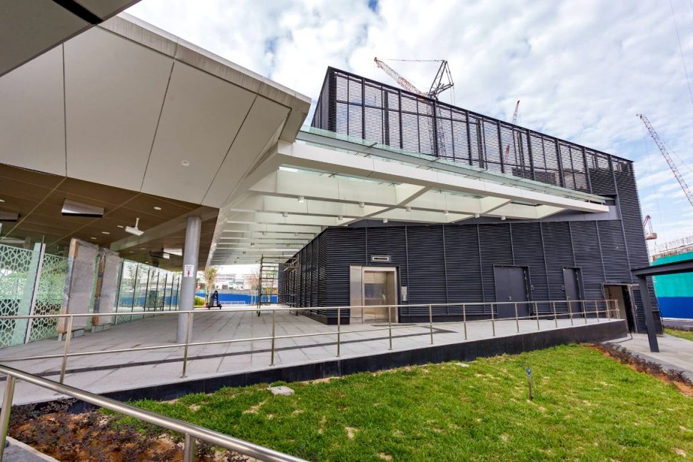
<path fill-rule="evenodd" d="M 363 219 L 447 224 L 609 210 L 593 194 L 316 129 L 298 139 L 279 141 L 221 209 L 208 263 L 289 258 L 326 227 Z"/>

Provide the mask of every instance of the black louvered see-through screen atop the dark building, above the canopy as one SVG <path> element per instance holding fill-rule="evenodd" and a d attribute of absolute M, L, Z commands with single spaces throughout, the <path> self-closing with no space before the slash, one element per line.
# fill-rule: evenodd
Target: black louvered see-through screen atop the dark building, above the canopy
<path fill-rule="evenodd" d="M 311 126 L 542 183 L 616 194 L 609 154 L 334 68 L 327 70 Z"/>

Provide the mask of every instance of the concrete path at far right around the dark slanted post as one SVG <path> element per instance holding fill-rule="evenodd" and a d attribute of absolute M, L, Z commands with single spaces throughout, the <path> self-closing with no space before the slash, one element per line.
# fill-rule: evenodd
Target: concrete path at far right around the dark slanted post
<path fill-rule="evenodd" d="M 693 380 L 693 341 L 669 335 L 657 336 L 659 353 L 649 351 L 646 333 L 634 333 L 632 338 L 610 341 L 626 348 L 631 353 L 662 365 L 666 369 L 684 371 Z"/>

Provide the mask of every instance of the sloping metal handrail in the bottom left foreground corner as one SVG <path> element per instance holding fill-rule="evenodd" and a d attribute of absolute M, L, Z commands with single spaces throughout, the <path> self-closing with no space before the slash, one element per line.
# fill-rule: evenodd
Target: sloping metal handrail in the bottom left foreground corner
<path fill-rule="evenodd" d="M 129 404 L 121 403 L 105 396 L 96 395 L 72 386 L 63 385 L 55 381 L 48 380 L 35 376 L 34 374 L 20 371 L 19 369 L 0 365 L 0 373 L 7 376 L 5 384 L 4 396 L 2 399 L 2 409 L 0 410 L 0 462 L 5 449 L 5 441 L 7 431 L 9 429 L 9 416 L 12 407 L 12 399 L 14 397 L 14 386 L 16 379 L 20 379 L 42 388 L 47 388 L 57 393 L 61 393 L 72 398 L 85 401 L 86 403 L 94 404 L 101 408 L 109 409 L 110 411 L 124 414 L 125 416 L 134 417 L 140 421 L 153 423 L 161 428 L 166 428 L 170 431 L 182 433 L 184 435 L 183 446 L 183 462 L 192 462 L 195 460 L 195 446 L 197 440 L 206 441 L 207 443 L 221 446 L 231 451 L 236 451 L 244 456 L 256 458 L 260 461 L 268 462 L 306 462 L 304 459 L 289 456 L 274 449 L 265 448 L 249 441 L 244 441 L 233 436 L 219 433 L 218 431 L 210 430 L 201 426 L 194 425 L 181 421 L 177 418 L 163 416 L 159 413 L 147 411 L 146 409 L 130 406 Z"/>

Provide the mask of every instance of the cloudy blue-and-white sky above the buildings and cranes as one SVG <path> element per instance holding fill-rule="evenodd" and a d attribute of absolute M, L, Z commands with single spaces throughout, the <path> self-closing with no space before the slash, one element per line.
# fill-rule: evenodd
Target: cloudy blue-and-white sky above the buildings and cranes
<path fill-rule="evenodd" d="M 693 187 L 693 0 L 141 0 L 128 12 L 313 103 L 327 66 L 391 83 L 374 56 L 447 59 L 443 101 L 510 120 L 520 99 L 520 125 L 634 160 L 657 242 L 693 235 L 693 206 L 636 117 Z M 425 88 L 437 69 L 390 64 Z"/>

